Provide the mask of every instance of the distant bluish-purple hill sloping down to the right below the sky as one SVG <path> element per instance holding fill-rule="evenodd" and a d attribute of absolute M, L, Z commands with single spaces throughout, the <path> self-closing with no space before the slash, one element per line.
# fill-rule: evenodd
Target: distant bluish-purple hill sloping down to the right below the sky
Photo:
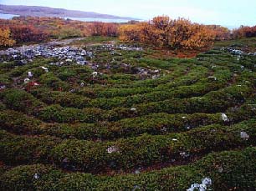
<path fill-rule="evenodd" d="M 64 8 L 48 8 L 39 6 L 3 5 L 0 4 L 0 13 L 33 17 L 58 17 L 58 18 L 106 18 L 139 20 L 137 18 L 119 17 L 115 15 L 67 10 Z"/>

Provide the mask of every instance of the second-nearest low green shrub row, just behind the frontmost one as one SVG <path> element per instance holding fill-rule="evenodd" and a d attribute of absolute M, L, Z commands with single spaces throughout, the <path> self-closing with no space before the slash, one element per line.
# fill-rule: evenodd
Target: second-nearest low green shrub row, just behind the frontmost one
<path fill-rule="evenodd" d="M 4 163 L 54 162 L 60 167 L 65 164 L 75 170 L 90 172 L 106 168 L 132 169 L 172 159 L 190 161 L 198 154 L 255 145 L 255 127 L 255 120 L 250 120 L 231 127 L 211 125 L 185 133 L 143 134 L 113 142 L 27 138 L 1 131 L 0 160 Z M 249 137 L 241 138 L 241 132 L 246 132 Z"/>

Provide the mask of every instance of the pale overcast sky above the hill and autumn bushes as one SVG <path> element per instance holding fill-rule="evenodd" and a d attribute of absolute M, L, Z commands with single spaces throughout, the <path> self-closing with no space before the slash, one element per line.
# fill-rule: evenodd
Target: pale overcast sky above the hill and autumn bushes
<path fill-rule="evenodd" d="M 239 27 L 256 25 L 256 0 L 0 0 L 8 5 L 35 5 L 90 11 L 133 18 L 157 15 L 192 22 Z"/>

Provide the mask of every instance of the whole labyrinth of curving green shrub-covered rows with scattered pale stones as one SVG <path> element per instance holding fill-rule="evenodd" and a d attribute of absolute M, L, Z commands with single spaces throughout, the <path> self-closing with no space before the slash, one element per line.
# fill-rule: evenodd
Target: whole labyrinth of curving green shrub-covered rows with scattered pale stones
<path fill-rule="evenodd" d="M 254 53 L 152 52 L 111 44 L 2 51 L 0 188 L 252 188 Z"/>

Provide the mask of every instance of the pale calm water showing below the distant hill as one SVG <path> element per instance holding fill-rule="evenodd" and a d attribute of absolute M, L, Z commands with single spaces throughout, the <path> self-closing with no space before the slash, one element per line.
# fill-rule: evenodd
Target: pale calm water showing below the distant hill
<path fill-rule="evenodd" d="M 18 17 L 18 15 L 0 13 L 0 18 L 11 19 L 13 17 Z M 70 18 L 70 19 L 84 21 L 84 22 L 100 21 L 104 23 L 127 23 L 129 21 L 126 19 L 107 19 L 107 18 Z"/>

